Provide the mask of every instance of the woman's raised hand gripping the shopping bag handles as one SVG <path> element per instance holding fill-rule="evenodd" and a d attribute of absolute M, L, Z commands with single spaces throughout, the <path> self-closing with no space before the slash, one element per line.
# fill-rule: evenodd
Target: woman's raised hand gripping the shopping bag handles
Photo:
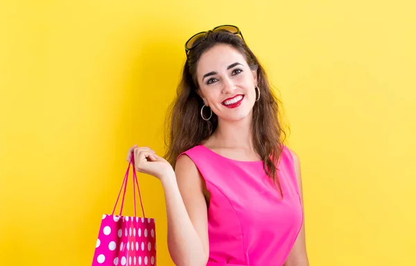
<path fill-rule="evenodd" d="M 137 144 L 128 150 L 127 161 L 130 163 L 132 154 L 135 155 L 135 169 L 137 172 L 150 174 L 162 180 L 166 176 L 174 175 L 175 171 L 170 163 L 156 155 L 149 147 L 137 147 Z"/>

